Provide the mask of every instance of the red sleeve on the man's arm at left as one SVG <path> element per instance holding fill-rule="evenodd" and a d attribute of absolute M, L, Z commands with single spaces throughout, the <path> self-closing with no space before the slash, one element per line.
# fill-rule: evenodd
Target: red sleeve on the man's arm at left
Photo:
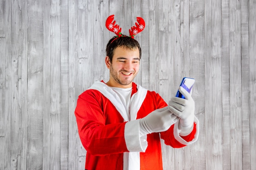
<path fill-rule="evenodd" d="M 124 139 L 126 122 L 111 104 L 95 90 L 85 91 L 77 100 L 75 115 L 79 136 L 92 155 L 128 152 Z M 109 113 L 114 115 L 111 119 Z"/>

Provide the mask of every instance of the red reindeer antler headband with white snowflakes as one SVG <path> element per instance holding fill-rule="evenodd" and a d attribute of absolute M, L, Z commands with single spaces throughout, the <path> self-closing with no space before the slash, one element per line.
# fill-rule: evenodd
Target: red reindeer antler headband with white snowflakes
<path fill-rule="evenodd" d="M 120 28 L 120 26 L 117 25 L 117 24 L 115 25 L 116 21 L 113 21 L 114 20 L 114 16 L 115 15 L 110 15 L 107 18 L 107 20 L 106 20 L 106 27 L 107 27 L 107 29 L 109 31 L 115 33 L 117 35 L 117 38 L 119 38 L 119 37 L 122 36 L 122 34 L 121 34 L 122 28 Z M 134 38 L 135 35 L 137 35 L 141 31 L 143 31 L 144 28 L 145 28 L 145 21 L 143 20 L 143 18 L 137 17 L 137 22 L 135 22 L 135 26 L 132 26 L 131 29 L 129 29 L 129 33 L 130 33 L 130 37 L 131 38 Z M 115 38 L 114 40 L 116 40 L 117 38 Z"/>

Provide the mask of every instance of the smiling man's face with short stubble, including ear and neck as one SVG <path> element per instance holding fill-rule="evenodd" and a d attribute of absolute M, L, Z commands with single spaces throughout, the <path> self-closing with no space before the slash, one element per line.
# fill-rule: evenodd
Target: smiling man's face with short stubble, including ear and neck
<path fill-rule="evenodd" d="M 114 50 L 112 63 L 106 57 L 106 65 L 110 69 L 110 80 L 108 86 L 129 88 L 139 71 L 139 49 L 130 50 L 124 47 L 117 47 Z"/>

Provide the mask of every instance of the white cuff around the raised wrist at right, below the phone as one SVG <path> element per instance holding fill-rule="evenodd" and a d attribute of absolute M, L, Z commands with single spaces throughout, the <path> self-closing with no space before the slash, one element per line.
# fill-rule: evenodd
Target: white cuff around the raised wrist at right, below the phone
<path fill-rule="evenodd" d="M 175 139 L 176 139 L 177 141 L 179 141 L 181 144 L 183 144 L 183 145 L 189 145 L 189 144 L 192 144 L 192 143 L 194 143 L 195 141 L 198 140 L 198 135 L 199 135 L 199 120 L 195 117 L 194 121 L 195 121 L 195 124 L 196 124 L 196 126 L 195 126 L 195 128 L 196 128 L 195 137 L 194 137 L 194 139 L 193 139 L 192 141 L 189 141 L 189 142 L 187 142 L 187 141 L 185 141 L 184 139 L 182 139 L 182 137 L 180 137 L 180 135 L 179 135 L 179 133 L 180 133 L 180 130 L 179 130 L 179 128 L 178 128 L 178 126 L 179 126 L 179 121 L 177 121 L 177 122 L 174 124 L 174 128 L 173 128 L 174 137 L 175 137 Z"/>

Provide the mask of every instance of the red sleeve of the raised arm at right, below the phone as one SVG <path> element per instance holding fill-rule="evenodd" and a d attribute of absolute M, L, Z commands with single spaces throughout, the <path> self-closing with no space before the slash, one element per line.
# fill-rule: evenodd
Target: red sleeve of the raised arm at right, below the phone
<path fill-rule="evenodd" d="M 187 135 L 187 136 L 181 136 L 182 139 L 184 139 L 185 141 L 189 142 L 192 141 L 195 138 L 195 133 L 196 133 L 196 124 L 194 123 L 194 128 L 192 130 L 192 132 Z M 173 134 L 173 128 L 174 128 L 174 124 L 165 132 L 161 132 L 161 139 L 164 139 L 164 144 L 169 145 L 173 148 L 182 148 L 186 145 L 181 144 L 179 141 L 177 141 L 174 137 Z"/>

